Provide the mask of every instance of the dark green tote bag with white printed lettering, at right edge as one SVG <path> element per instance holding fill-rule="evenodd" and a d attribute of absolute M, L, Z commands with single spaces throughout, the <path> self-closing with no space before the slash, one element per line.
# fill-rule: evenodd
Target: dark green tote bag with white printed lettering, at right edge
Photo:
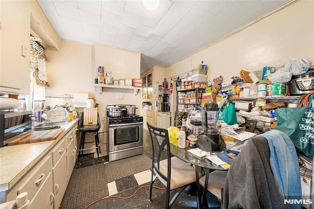
<path fill-rule="evenodd" d="M 275 129 L 286 133 L 297 150 L 314 156 L 314 108 L 313 95 L 306 107 L 287 107 L 275 110 L 277 126 Z"/>

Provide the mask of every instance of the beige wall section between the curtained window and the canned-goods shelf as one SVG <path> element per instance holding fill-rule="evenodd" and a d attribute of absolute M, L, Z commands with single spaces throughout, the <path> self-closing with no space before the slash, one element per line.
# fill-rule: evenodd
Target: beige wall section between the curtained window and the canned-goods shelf
<path fill-rule="evenodd" d="M 92 46 L 71 41 L 61 41 L 59 51 L 46 51 L 47 78 L 51 88 L 46 96 L 89 93 L 94 97 L 92 74 Z"/>

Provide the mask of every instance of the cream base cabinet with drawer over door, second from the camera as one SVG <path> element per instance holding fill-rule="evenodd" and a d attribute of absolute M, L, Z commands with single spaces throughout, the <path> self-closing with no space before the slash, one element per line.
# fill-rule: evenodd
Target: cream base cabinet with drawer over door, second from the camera
<path fill-rule="evenodd" d="M 52 151 L 52 158 L 54 209 L 58 209 L 68 184 L 66 138 L 63 138 L 59 146 Z"/>

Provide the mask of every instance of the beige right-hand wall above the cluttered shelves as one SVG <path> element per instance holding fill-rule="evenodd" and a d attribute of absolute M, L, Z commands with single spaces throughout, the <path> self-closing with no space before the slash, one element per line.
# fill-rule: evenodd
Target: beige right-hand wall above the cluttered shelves
<path fill-rule="evenodd" d="M 279 60 L 304 57 L 314 61 L 314 1 L 301 0 L 235 35 L 196 52 L 166 68 L 171 78 L 209 66 L 208 78 L 239 76 L 240 70 L 255 71 L 278 66 Z"/>

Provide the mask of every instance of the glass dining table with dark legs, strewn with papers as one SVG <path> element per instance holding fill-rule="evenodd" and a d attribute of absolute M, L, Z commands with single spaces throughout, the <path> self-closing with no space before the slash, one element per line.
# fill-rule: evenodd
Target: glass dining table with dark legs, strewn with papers
<path fill-rule="evenodd" d="M 191 165 L 195 165 L 196 188 L 197 188 L 197 196 L 198 196 L 197 206 L 198 208 L 201 208 L 201 209 L 208 208 L 206 193 L 207 193 L 209 173 L 213 170 L 225 170 L 225 169 L 223 169 L 221 166 L 215 165 L 206 157 L 197 157 L 193 155 L 192 153 L 188 152 L 189 149 L 191 148 L 182 149 L 170 143 L 170 152 L 173 156 L 178 157 Z M 199 173 L 200 173 L 201 168 L 203 168 L 206 175 L 203 192 L 201 192 L 201 187 L 199 183 Z"/>

